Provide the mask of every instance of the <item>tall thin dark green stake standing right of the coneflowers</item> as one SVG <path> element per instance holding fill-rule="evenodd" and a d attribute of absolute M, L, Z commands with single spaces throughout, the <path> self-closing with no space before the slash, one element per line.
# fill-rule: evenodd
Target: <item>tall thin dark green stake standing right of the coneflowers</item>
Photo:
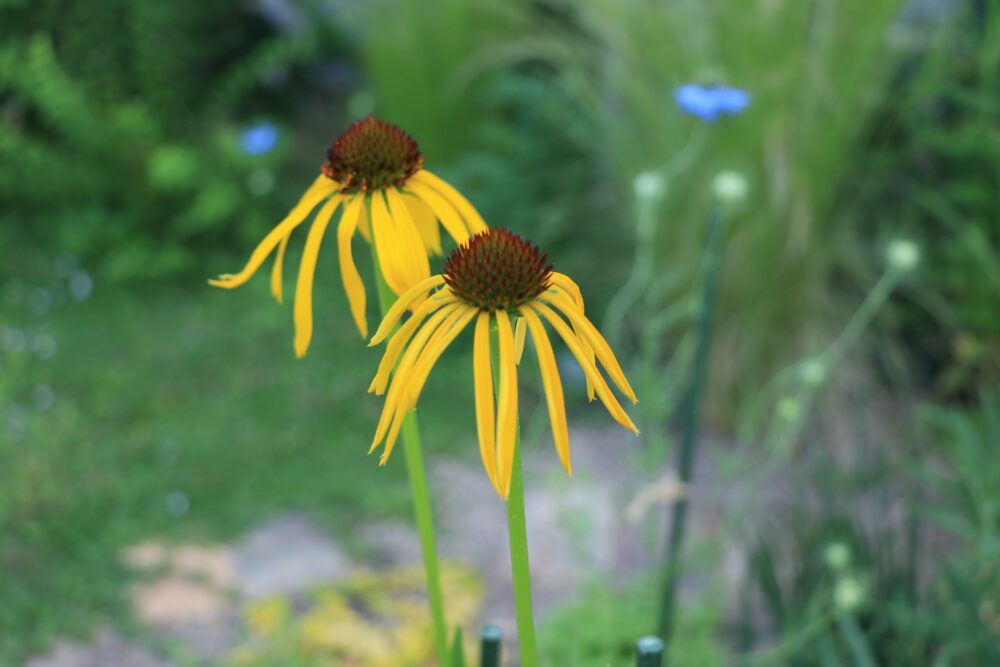
<path fill-rule="evenodd" d="M 668 645 L 664 663 L 669 662 L 669 642 L 674 626 L 674 609 L 677 598 L 677 582 L 681 574 L 681 547 L 687 522 L 687 489 L 694 470 L 695 448 L 698 444 L 698 423 L 701 413 L 701 399 L 708 376 L 709 349 L 712 340 L 712 319 L 715 310 L 716 285 L 722 264 L 722 213 L 716 210 L 708 223 L 708 242 L 705 248 L 702 268 L 701 306 L 698 314 L 697 334 L 694 351 L 694 365 L 691 384 L 684 401 L 681 418 L 681 448 L 678 452 L 678 475 L 684 492 L 674 501 L 671 512 L 670 533 L 667 541 L 667 555 L 663 565 L 663 596 L 660 603 L 660 637 Z"/>

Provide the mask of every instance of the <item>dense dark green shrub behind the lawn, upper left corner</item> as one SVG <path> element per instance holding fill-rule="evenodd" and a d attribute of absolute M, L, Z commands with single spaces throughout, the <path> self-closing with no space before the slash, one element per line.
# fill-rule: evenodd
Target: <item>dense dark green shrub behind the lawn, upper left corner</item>
<path fill-rule="evenodd" d="M 279 34 L 235 1 L 8 2 L 0 25 L 0 242 L 112 281 L 259 237 L 292 142 L 248 155 L 239 129 L 287 116 L 296 66 L 343 51 L 329 21 Z"/>

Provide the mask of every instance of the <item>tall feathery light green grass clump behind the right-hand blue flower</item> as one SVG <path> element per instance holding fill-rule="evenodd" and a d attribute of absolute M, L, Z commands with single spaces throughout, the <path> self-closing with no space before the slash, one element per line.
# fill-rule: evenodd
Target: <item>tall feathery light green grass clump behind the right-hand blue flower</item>
<path fill-rule="evenodd" d="M 595 118 L 615 216 L 600 220 L 634 236 L 635 177 L 693 153 L 665 183 L 652 239 L 655 269 L 678 274 L 633 312 L 644 322 L 692 293 L 712 179 L 741 172 L 750 184 L 730 225 L 713 354 L 712 404 L 734 401 L 822 340 L 839 321 L 833 278 L 858 247 L 845 215 L 845 178 L 863 168 L 863 137 L 896 54 L 886 33 L 902 0 L 554 3 L 566 21 L 545 24 L 532 57 L 554 63 L 578 108 Z M 738 118 L 705 126 L 673 101 L 676 86 L 722 82 L 752 95 Z M 690 311 L 689 311 L 690 312 Z M 780 323 L 781 335 L 774 333 Z M 679 339 L 690 319 L 663 335 Z M 667 351 L 667 353 L 669 350 Z"/>

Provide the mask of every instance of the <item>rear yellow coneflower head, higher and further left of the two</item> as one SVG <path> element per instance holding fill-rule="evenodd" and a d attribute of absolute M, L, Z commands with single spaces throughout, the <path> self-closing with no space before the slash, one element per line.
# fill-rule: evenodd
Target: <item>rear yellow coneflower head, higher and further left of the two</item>
<path fill-rule="evenodd" d="M 209 282 L 228 289 L 239 287 L 277 250 L 271 292 L 280 303 L 282 260 L 288 241 L 295 228 L 322 203 L 306 237 L 295 289 L 295 353 L 304 356 L 312 339 L 316 260 L 326 228 L 340 208 L 340 275 L 354 323 L 367 338 L 365 286 L 351 254 L 355 232 L 374 244 L 382 275 L 399 295 L 430 276 L 428 255 L 442 253 L 438 223 L 459 244 L 486 229 L 472 204 L 424 169 L 423 163 L 416 141 L 395 125 L 373 116 L 355 123 L 333 142 L 320 176 L 291 213 L 264 237 L 243 270 Z"/>

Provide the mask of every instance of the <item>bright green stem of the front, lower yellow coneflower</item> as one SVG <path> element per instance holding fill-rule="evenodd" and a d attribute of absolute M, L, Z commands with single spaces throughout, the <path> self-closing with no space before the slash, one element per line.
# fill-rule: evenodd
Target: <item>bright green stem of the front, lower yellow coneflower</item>
<path fill-rule="evenodd" d="M 490 326 L 490 355 L 493 387 L 500 389 L 500 336 L 496 322 Z M 499 395 L 497 401 L 500 400 Z M 507 496 L 507 535 L 510 544 L 510 573 L 514 583 L 514 613 L 517 620 L 517 645 L 521 667 L 538 667 L 538 644 L 535 640 L 535 616 L 531 604 L 531 565 L 528 561 L 528 526 L 524 514 L 524 473 L 521 466 L 520 415 L 514 430 L 514 469 Z"/>

